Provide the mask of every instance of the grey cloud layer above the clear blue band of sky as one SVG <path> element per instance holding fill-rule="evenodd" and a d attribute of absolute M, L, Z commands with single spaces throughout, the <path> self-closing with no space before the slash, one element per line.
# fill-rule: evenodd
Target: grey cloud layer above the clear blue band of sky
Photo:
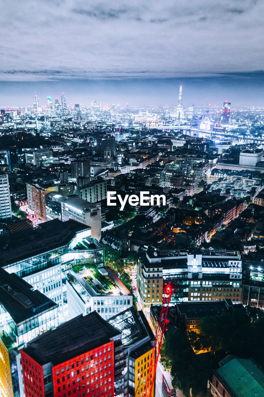
<path fill-rule="evenodd" d="M 1 14 L 1 104 L 21 82 L 234 75 L 243 84 L 263 69 L 262 0 L 13 0 Z"/>

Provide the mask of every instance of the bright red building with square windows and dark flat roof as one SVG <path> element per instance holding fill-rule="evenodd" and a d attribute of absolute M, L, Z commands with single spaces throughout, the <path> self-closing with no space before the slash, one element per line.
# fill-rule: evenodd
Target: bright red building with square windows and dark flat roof
<path fill-rule="evenodd" d="M 121 332 L 96 312 L 39 335 L 21 350 L 25 396 L 113 397 L 120 345 Z"/>

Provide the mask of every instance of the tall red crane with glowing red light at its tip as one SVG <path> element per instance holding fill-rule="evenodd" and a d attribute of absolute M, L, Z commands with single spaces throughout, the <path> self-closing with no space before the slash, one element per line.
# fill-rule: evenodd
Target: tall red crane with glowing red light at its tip
<path fill-rule="evenodd" d="M 164 334 L 164 330 L 165 330 L 165 325 L 168 323 L 167 314 L 168 314 L 168 305 L 170 303 L 171 292 L 172 292 L 171 287 L 169 287 L 169 286 L 166 287 L 165 294 L 164 294 L 163 301 L 162 301 L 162 306 L 161 306 L 161 314 L 159 315 L 159 323 L 158 323 L 157 330 L 156 330 L 154 346 L 153 346 L 153 350 L 151 353 L 151 358 L 150 358 L 150 363 L 149 363 L 149 371 L 147 374 L 147 382 L 145 385 L 143 397 L 151 397 L 154 380 L 155 380 L 155 375 L 156 375 L 156 370 L 157 370 L 157 365 L 158 365 L 158 360 L 159 360 L 159 352 L 161 350 L 161 343 L 162 343 L 163 334 Z M 153 372 L 153 378 L 152 378 L 153 367 L 154 367 L 154 372 Z M 151 380 L 152 380 L 152 382 L 151 382 Z M 150 384 L 150 389 L 149 389 L 149 384 Z"/>

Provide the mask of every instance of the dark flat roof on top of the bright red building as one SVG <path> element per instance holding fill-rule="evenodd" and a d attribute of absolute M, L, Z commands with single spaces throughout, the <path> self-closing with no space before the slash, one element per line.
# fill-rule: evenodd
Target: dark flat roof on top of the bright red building
<path fill-rule="evenodd" d="M 61 364 L 121 337 L 121 332 L 97 312 L 77 316 L 55 330 L 42 333 L 23 349 L 39 364 Z"/>

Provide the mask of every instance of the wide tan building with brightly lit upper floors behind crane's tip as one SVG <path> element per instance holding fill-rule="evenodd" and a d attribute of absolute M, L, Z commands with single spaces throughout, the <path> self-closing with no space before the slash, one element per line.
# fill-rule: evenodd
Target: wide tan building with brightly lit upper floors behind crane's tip
<path fill-rule="evenodd" d="M 137 286 L 144 308 L 161 304 L 170 285 L 170 302 L 223 301 L 241 303 L 242 262 L 235 251 L 167 250 L 142 252 Z"/>

